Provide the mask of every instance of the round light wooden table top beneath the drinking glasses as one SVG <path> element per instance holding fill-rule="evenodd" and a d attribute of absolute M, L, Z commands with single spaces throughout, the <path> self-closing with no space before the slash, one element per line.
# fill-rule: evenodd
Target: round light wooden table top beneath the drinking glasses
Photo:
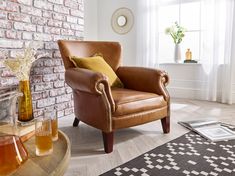
<path fill-rule="evenodd" d="M 53 153 L 48 156 L 36 156 L 35 137 L 24 142 L 29 158 L 11 175 L 14 176 L 60 176 L 64 175 L 70 160 L 70 141 L 68 137 L 59 130 L 59 138 L 53 142 Z"/>

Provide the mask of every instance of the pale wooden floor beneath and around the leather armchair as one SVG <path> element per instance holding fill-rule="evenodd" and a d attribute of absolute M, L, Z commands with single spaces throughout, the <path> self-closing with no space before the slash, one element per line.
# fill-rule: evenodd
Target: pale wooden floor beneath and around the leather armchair
<path fill-rule="evenodd" d="M 92 107 L 91 107 L 92 111 Z M 161 122 L 119 130 L 115 133 L 114 151 L 105 154 L 99 130 L 80 123 L 72 127 L 73 117 L 60 118 L 59 126 L 71 141 L 71 161 L 66 176 L 96 176 L 138 155 L 175 139 L 188 130 L 177 124 L 180 120 L 216 119 L 235 124 L 235 105 L 207 101 L 173 99 L 171 132 L 163 134 Z"/>

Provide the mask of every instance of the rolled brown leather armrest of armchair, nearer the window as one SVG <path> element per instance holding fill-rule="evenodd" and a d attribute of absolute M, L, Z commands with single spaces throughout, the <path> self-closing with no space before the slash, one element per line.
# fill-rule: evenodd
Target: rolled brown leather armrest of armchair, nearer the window
<path fill-rule="evenodd" d="M 169 101 L 166 86 L 169 77 L 165 71 L 143 67 L 119 67 L 117 75 L 125 88 L 163 95 Z"/>

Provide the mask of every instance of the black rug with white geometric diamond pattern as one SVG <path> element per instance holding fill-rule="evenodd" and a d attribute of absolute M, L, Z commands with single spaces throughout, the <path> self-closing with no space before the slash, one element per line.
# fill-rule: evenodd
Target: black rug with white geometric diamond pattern
<path fill-rule="evenodd" d="M 235 140 L 210 142 L 191 131 L 102 174 L 120 175 L 235 176 Z"/>

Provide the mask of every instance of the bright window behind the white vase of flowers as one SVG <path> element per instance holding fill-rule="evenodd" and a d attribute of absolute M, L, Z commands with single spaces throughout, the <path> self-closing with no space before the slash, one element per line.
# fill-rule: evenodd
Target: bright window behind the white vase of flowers
<path fill-rule="evenodd" d="M 187 29 L 181 42 L 181 57 L 185 59 L 187 48 L 192 59 L 199 60 L 201 43 L 201 0 L 162 0 L 159 6 L 159 62 L 174 62 L 174 42 L 165 29 L 178 22 Z"/>

